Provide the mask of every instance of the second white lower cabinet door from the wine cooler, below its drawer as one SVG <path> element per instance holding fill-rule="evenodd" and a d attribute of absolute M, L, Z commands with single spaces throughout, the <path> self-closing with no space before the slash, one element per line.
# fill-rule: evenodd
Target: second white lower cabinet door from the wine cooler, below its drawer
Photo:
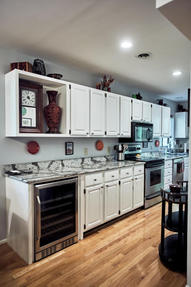
<path fill-rule="evenodd" d="M 104 221 L 119 214 L 119 181 L 104 184 Z"/>

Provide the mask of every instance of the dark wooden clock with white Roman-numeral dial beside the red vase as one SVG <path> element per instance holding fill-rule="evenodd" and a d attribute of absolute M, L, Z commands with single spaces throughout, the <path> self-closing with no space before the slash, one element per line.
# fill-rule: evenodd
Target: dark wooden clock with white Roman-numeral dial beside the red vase
<path fill-rule="evenodd" d="M 43 86 L 19 80 L 19 132 L 43 132 Z"/>

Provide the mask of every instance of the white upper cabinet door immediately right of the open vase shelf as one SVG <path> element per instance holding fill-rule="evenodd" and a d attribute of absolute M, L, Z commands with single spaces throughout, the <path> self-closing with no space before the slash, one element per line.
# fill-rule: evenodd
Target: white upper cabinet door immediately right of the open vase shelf
<path fill-rule="evenodd" d="M 89 88 L 71 85 L 71 135 L 89 135 L 90 119 L 90 91 Z"/>

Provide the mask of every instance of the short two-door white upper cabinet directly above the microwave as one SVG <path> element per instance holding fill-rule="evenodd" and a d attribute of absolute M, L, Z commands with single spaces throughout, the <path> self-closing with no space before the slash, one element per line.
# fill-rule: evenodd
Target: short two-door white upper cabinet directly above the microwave
<path fill-rule="evenodd" d="M 151 123 L 151 103 L 132 99 L 132 120 Z"/>

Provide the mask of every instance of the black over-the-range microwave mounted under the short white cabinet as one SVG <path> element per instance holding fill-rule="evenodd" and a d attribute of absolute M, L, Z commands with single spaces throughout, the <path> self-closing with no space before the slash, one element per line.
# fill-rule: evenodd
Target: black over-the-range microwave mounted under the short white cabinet
<path fill-rule="evenodd" d="M 153 124 L 131 122 L 131 138 L 119 138 L 120 142 L 136 143 L 136 142 L 152 142 L 153 141 Z"/>

